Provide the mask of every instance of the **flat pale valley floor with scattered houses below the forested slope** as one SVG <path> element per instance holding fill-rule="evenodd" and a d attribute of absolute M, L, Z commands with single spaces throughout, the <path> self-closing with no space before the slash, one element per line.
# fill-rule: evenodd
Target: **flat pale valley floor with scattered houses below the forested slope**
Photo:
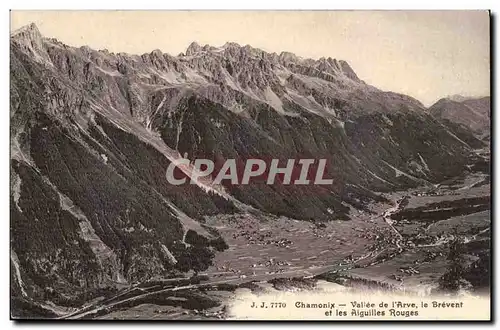
<path fill-rule="evenodd" d="M 316 286 L 341 285 L 430 295 L 447 268 L 447 243 L 453 238 L 450 233 L 464 238 L 471 263 L 485 252 L 489 254 L 489 212 L 475 212 L 476 202 L 465 203 L 471 209 L 468 216 L 432 217 L 423 227 L 419 225 L 425 219 L 425 211 L 420 212 L 417 221 L 389 223 L 387 218 L 398 218 L 395 215 L 403 210 L 443 201 L 459 201 L 463 206 L 470 196 L 481 196 L 481 200 L 489 203 L 488 184 L 475 187 L 469 184 L 485 176 L 470 173 L 440 186 L 439 192 L 433 186 L 391 194 L 386 197 L 394 201 L 395 207 L 384 209 L 389 205 L 373 205 L 372 210 L 380 213 L 358 215 L 349 222 L 318 226 L 255 215 L 213 217 L 207 219 L 207 224 L 220 231 L 229 248 L 216 256 L 214 265 L 206 272 L 183 279 L 137 284 L 60 317 L 133 319 L 134 315 L 140 318 L 146 315 L 153 320 L 220 319 L 227 316 L 228 302 L 242 289 L 314 291 Z M 483 280 L 489 277 L 479 276 Z M 484 285 L 474 289 L 479 294 L 489 290 Z M 192 302 L 199 296 L 207 300 L 206 306 Z"/>

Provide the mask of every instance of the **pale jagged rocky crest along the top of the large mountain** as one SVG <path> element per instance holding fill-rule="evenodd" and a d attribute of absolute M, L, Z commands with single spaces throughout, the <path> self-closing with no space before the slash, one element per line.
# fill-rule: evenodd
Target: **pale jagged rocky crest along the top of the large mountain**
<path fill-rule="evenodd" d="M 301 93 L 313 88 L 307 76 L 324 80 L 326 89 L 330 89 L 327 85 L 329 83 L 338 86 L 335 93 L 339 96 L 347 93 L 345 86 L 350 86 L 350 88 L 360 86 L 358 77 L 345 61 L 338 61 L 331 57 L 318 60 L 302 58 L 286 51 L 278 55 L 248 44 L 241 46 L 236 42 L 226 42 L 221 47 L 201 46 L 197 42 L 192 42 L 185 54 L 181 53 L 179 56 L 171 56 L 158 49 L 138 56 L 125 53 L 114 54 L 105 50 L 93 51 L 88 47 L 80 47 L 75 51 L 76 49 L 70 46 L 43 38 L 35 25 L 26 26 L 13 33 L 14 35 L 16 38 L 12 39 L 20 40 L 15 43 L 20 44 L 19 48 L 24 53 L 45 66 L 55 65 L 58 70 L 67 73 L 71 79 L 81 71 L 78 68 L 85 67 L 87 62 L 95 64 L 97 70 L 92 71 L 95 73 L 93 78 L 92 75 L 88 75 L 90 71 L 87 70 L 86 80 L 82 81 L 95 80 L 93 86 L 101 86 L 104 76 L 108 77 L 106 79 L 127 76 L 127 79 L 134 82 L 127 95 L 137 94 L 138 99 L 143 98 L 146 93 L 146 89 L 141 87 L 143 83 L 148 85 L 186 84 L 190 88 L 205 90 L 209 82 L 221 86 L 222 95 L 215 97 L 210 94 L 212 95 L 210 97 L 217 102 L 225 105 L 237 103 L 236 96 L 227 92 L 235 91 L 257 101 L 272 104 L 274 108 L 281 111 L 281 103 L 285 99 L 289 102 L 289 97 L 284 96 L 287 88 L 292 88 L 292 93 L 300 97 L 302 97 Z M 32 42 L 33 40 L 35 41 Z M 55 44 L 58 47 L 54 47 Z M 286 80 L 291 74 L 296 74 L 296 79 Z M 319 83 L 323 84 L 321 81 Z M 102 88 L 102 91 L 104 90 Z M 311 101 L 312 105 L 307 105 L 309 101 L 304 103 L 302 98 L 297 97 L 292 102 L 308 108 L 317 107 L 317 104 L 325 102 L 333 102 L 331 97 L 328 98 L 322 94 L 324 94 L 323 90 L 316 94 L 318 99 Z M 129 101 L 123 100 L 123 102 Z M 332 103 L 332 106 L 335 105 Z"/>

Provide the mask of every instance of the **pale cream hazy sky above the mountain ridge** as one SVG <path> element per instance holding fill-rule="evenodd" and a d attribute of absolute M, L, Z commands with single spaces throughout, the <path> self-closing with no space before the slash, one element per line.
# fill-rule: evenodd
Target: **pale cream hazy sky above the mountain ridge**
<path fill-rule="evenodd" d="M 358 76 L 426 105 L 453 94 L 490 94 L 486 11 L 12 11 L 72 45 L 177 55 L 192 41 L 346 60 Z"/>

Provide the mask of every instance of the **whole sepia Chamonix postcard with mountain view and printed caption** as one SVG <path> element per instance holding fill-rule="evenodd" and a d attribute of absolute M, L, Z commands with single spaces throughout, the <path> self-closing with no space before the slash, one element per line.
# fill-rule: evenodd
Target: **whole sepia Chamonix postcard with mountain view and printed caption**
<path fill-rule="evenodd" d="M 488 11 L 11 11 L 14 320 L 491 320 Z"/>

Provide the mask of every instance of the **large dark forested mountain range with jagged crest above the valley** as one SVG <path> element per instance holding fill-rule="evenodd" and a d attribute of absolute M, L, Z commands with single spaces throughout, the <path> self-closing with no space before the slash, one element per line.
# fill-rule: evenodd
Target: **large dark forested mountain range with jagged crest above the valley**
<path fill-rule="evenodd" d="M 380 192 L 463 173 L 484 145 L 342 60 L 235 43 L 114 54 L 44 38 L 35 25 L 10 46 L 19 299 L 81 305 L 117 284 L 200 271 L 227 248 L 206 216 L 348 221 Z M 172 186 L 166 169 L 185 153 L 216 163 L 325 158 L 334 184 Z"/>

